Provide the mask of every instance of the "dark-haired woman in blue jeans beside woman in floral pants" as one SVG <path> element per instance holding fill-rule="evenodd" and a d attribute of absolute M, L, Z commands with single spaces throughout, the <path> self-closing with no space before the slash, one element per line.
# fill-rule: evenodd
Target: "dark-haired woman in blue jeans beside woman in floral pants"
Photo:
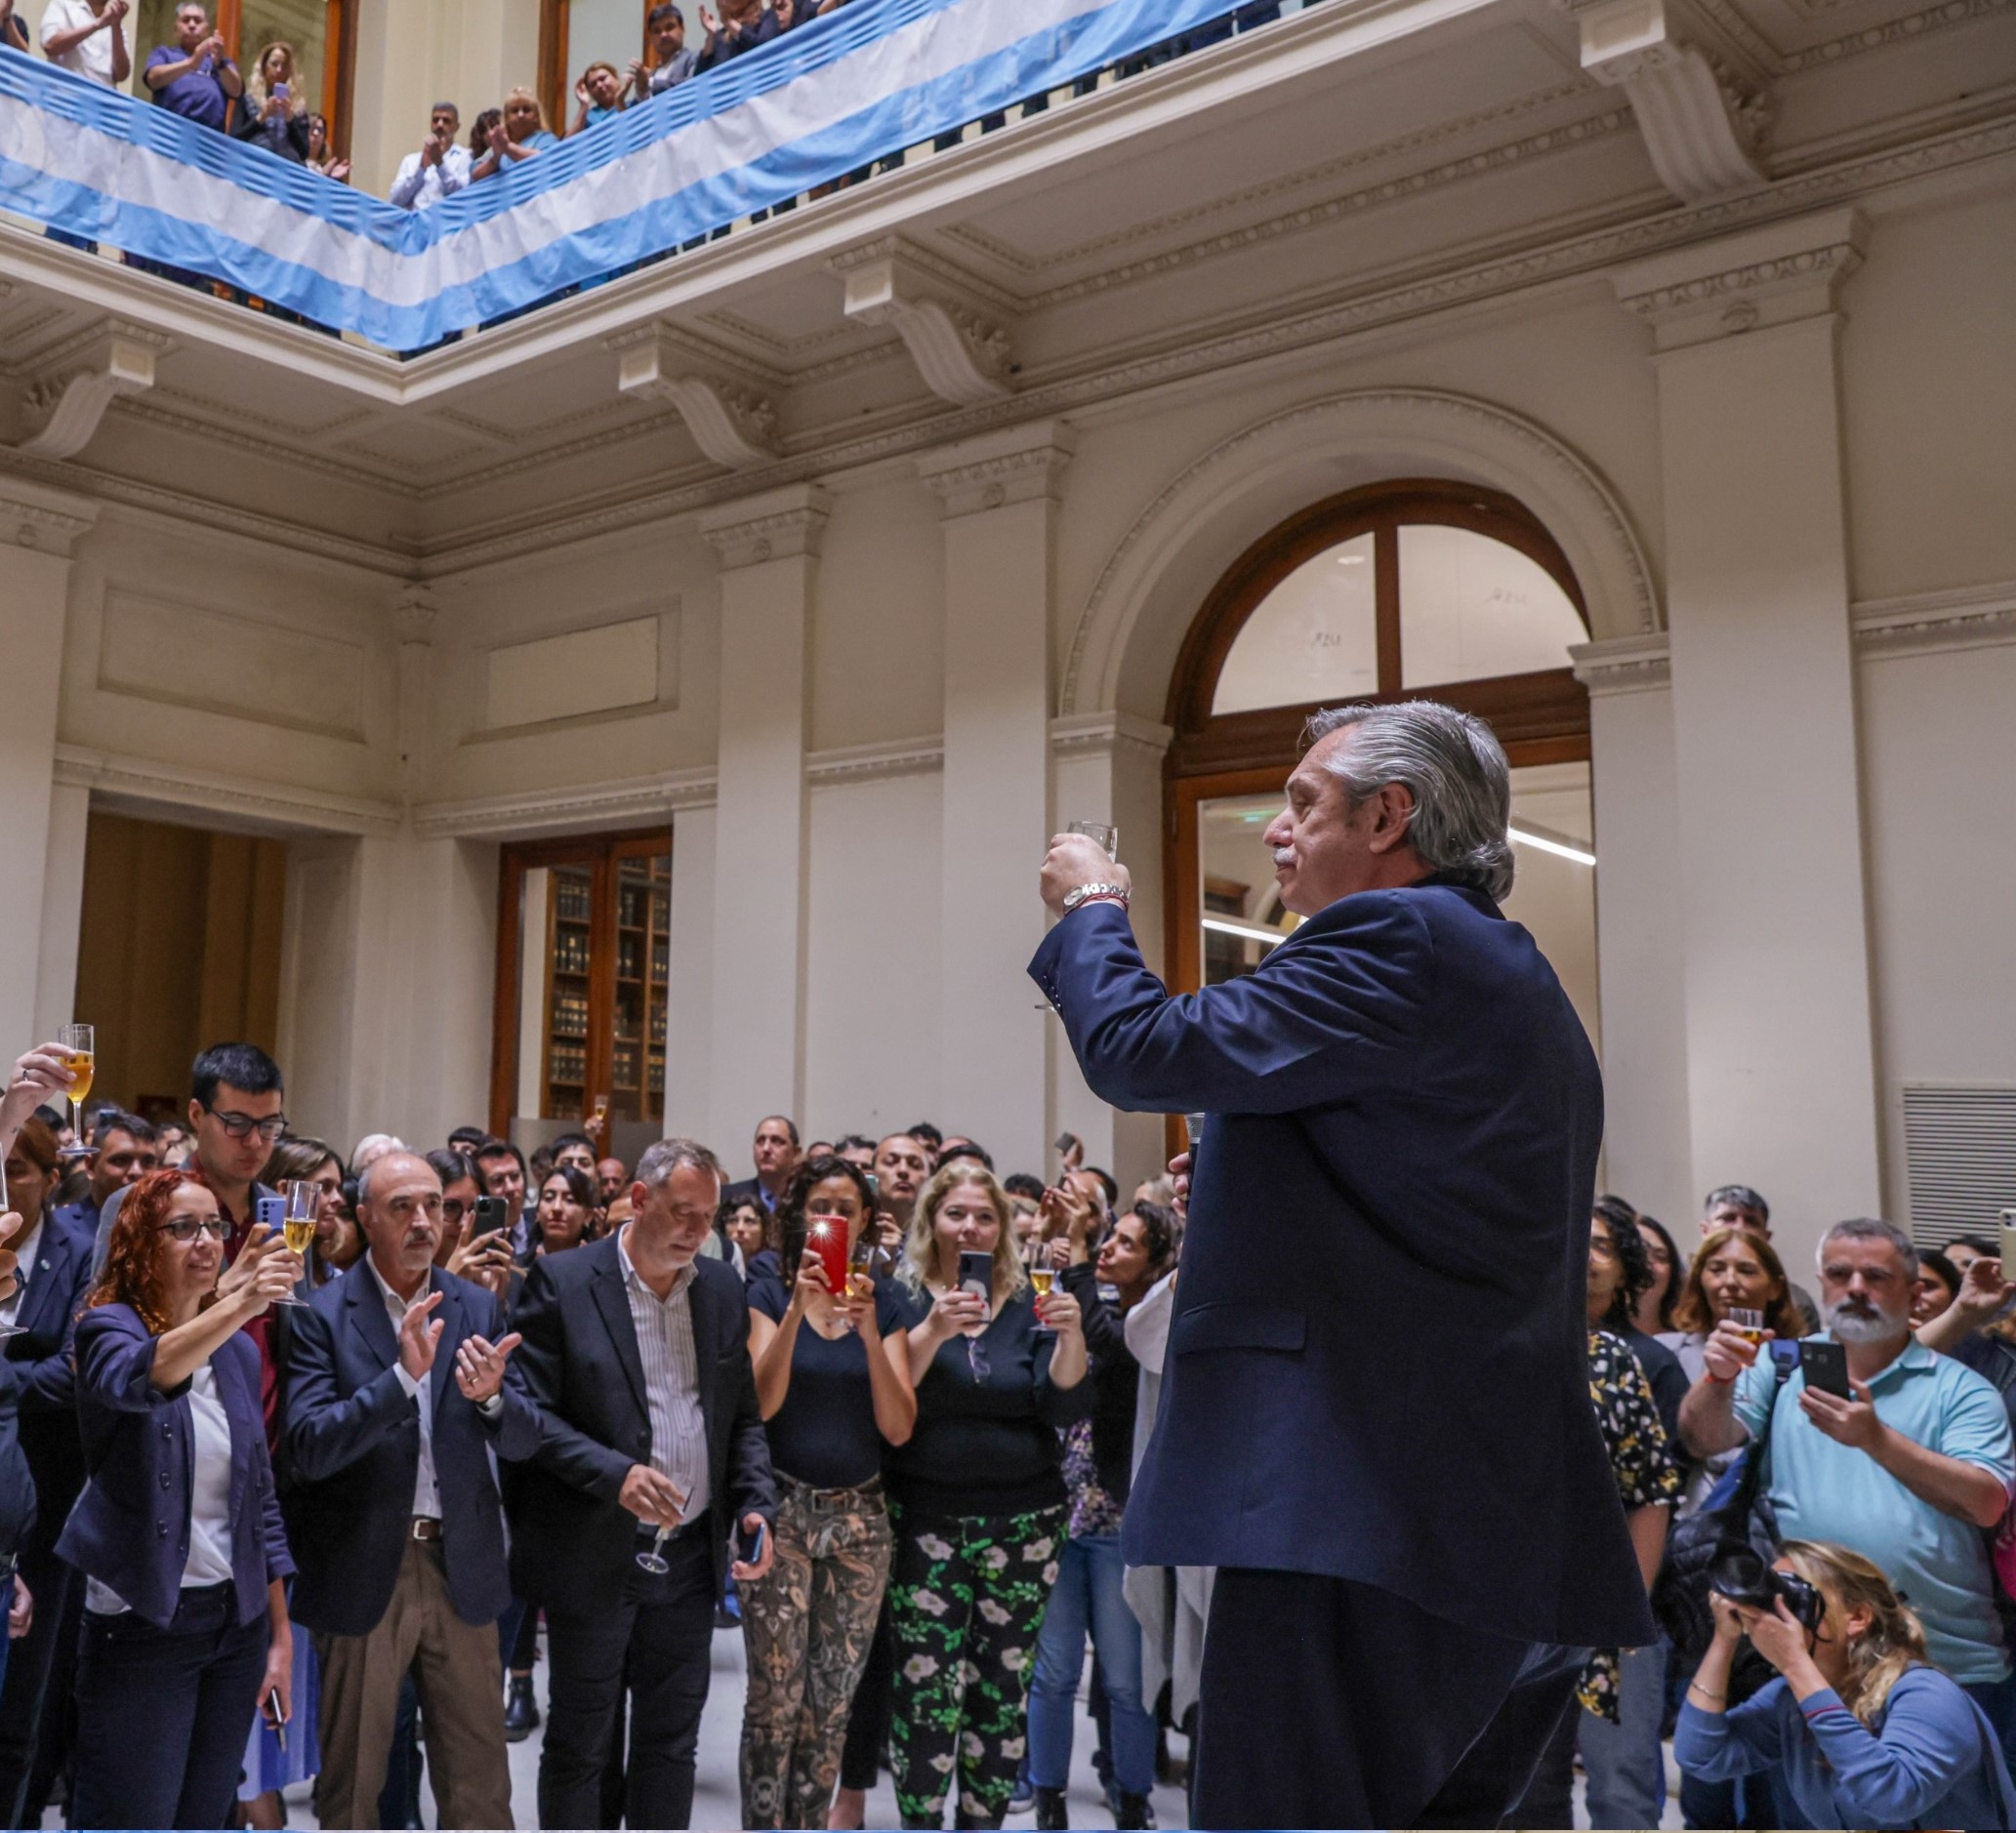
<path fill-rule="evenodd" d="M 1060 1285 L 1085 1317 L 1093 1369 L 1087 1383 L 1093 1416 L 1064 1434 L 1064 1490 L 1070 1520 L 1058 1561 L 1056 1589 L 1036 1643 L 1036 1678 L 1028 1696 L 1028 1779 L 1036 1791 L 1036 1825 L 1068 1827 L 1064 1783 L 1070 1781 L 1070 1720 L 1085 1672 L 1085 1637 L 1093 1637 L 1107 1694 L 1117 1827 L 1145 1827 L 1155 1787 L 1155 1716 L 1141 1698 L 1141 1625 L 1121 1591 L 1121 1516 L 1133 1476 L 1135 1406 L 1141 1365 L 1127 1349 L 1123 1319 L 1171 1266 L 1175 1218 L 1155 1204 L 1135 1204 L 1113 1224 L 1093 1262 L 1085 1230 L 1068 1230 Z M 1099 1285 L 1119 1291 L 1101 1299 Z"/>

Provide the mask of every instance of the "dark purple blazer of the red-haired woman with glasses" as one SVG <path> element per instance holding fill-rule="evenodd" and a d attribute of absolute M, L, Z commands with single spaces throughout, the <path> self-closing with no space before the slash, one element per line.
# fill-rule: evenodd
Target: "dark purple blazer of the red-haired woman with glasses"
<path fill-rule="evenodd" d="M 77 1325 L 77 1416 L 89 1478 L 56 1555 L 109 1585 L 145 1621 L 175 1617 L 190 1559 L 194 1484 L 190 1383 L 153 1385 L 155 1339 L 129 1305 L 101 1305 Z M 232 1583 L 238 1621 L 266 1609 L 272 1579 L 294 1573 L 266 1458 L 258 1349 L 232 1335 L 210 1353 L 232 1428 Z"/>

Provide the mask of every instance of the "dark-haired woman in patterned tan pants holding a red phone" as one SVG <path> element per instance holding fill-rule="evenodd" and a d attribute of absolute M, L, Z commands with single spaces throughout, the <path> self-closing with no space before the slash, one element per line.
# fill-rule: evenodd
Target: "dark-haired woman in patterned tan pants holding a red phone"
<path fill-rule="evenodd" d="M 875 1214 L 869 1180 L 823 1153 L 778 1202 L 784 1280 L 750 1280 L 750 1357 L 776 1472 L 776 1563 L 740 1585 L 748 1645 L 742 1825 L 825 1827 L 841 1742 L 889 1583 L 883 1446 L 917 1424 L 893 1287 L 835 1291 L 806 1234 L 853 1252 Z M 843 1254 L 843 1260 L 847 1258 Z"/>

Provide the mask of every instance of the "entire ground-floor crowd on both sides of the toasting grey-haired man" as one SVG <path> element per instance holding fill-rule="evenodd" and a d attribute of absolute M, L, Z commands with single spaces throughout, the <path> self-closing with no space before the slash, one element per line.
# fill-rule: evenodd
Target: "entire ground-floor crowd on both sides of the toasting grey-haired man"
<path fill-rule="evenodd" d="M 1068 1825 L 1087 1647 L 1113 1821 L 1153 1825 L 1212 1585 L 1119 1549 L 1179 1182 L 1121 1206 L 1075 1155 L 1000 1180 L 784 1115 L 736 1184 L 579 1131 L 345 1162 L 250 1045 L 196 1061 L 185 1127 L 73 1141 L 67 1087 L 42 1047 L 0 1099 L 8 1825 L 278 1827 L 298 1783 L 419 1825 L 425 1766 L 444 1827 L 500 1827 L 544 1720 L 540 1825 L 679 1827 L 732 1625 L 748 1827 L 857 1827 L 879 1764 L 907 1827 Z M 1593 1825 L 1657 1825 L 1671 1738 L 1687 1825 L 2010 1825 L 1996 1242 L 1847 1220 L 1808 1299 L 1758 1192 L 1699 1230 L 1597 1202 L 1591 1401 L 1655 1599 L 1764 1444 L 1768 1539 L 1738 1583 L 1722 1537 L 1699 1627 L 1661 1599 L 1657 1645 L 1589 1652 L 1520 1823 L 1570 1825 L 1579 1756 Z"/>

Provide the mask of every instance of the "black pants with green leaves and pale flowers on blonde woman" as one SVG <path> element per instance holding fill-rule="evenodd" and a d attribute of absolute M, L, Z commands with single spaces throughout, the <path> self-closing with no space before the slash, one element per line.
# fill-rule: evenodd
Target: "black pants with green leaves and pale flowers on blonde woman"
<path fill-rule="evenodd" d="M 1064 1510 L 935 1520 L 891 1512 L 897 1807 L 905 1823 L 937 1825 L 956 1768 L 960 1823 L 998 1827 L 1026 1748 L 1028 1674 Z"/>

